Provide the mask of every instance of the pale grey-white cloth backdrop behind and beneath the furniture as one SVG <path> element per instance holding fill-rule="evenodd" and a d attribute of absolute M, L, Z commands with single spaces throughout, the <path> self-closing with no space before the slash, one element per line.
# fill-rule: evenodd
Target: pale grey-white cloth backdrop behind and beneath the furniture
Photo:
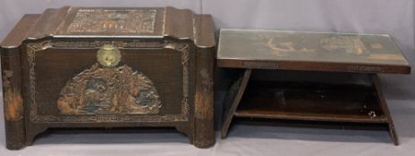
<path fill-rule="evenodd" d="M 64 5 L 169 5 L 212 14 L 216 29 L 389 34 L 409 61 L 415 62 L 413 0 L 0 0 L 0 40 L 23 14 L 41 13 L 46 8 Z M 4 154 L 0 155 L 415 155 L 415 78 L 413 75 L 384 75 L 381 80 L 400 146 L 389 143 L 387 132 L 237 125 L 227 139 L 217 138 L 215 147 L 207 150 L 194 148 L 187 144 L 184 136 L 176 133 L 58 133 L 40 137 L 33 146 L 11 152 L 4 148 L 2 118 L 0 153 Z M 216 121 L 219 121 L 225 87 L 216 81 L 216 88 Z"/>

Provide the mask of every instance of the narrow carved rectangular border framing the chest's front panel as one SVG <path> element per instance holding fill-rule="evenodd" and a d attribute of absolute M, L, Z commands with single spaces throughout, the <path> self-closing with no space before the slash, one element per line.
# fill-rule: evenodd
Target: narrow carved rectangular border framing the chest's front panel
<path fill-rule="evenodd" d="M 38 114 L 38 105 L 36 103 L 36 76 L 35 76 L 35 56 L 38 51 L 45 50 L 49 47 L 73 47 L 73 48 L 99 48 L 101 45 L 115 45 L 122 48 L 168 48 L 182 54 L 182 109 L 180 114 L 163 114 L 163 115 L 123 115 L 123 114 L 106 114 L 106 115 L 40 115 Z M 189 43 L 177 43 L 166 40 L 164 42 L 148 42 L 141 40 L 132 40 L 125 42 L 117 41 L 51 41 L 44 40 L 30 43 L 27 45 L 27 54 L 29 62 L 29 96 L 30 120 L 33 122 L 172 122 L 189 120 L 189 52 L 191 45 Z"/>

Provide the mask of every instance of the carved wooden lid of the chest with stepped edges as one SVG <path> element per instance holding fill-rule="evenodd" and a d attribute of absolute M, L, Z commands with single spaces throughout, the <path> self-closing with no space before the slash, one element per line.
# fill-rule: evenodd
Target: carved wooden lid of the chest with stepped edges
<path fill-rule="evenodd" d="M 25 19 L 30 22 L 24 22 Z M 21 45 L 26 38 L 42 37 L 122 37 L 187 39 L 199 47 L 215 46 L 210 15 L 173 7 L 70 7 L 47 9 L 42 14 L 25 15 L 2 43 Z"/>

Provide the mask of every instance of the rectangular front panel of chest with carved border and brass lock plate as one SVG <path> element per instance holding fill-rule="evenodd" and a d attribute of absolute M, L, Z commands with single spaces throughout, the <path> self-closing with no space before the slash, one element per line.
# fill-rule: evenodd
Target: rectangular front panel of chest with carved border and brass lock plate
<path fill-rule="evenodd" d="M 192 103 L 189 86 L 194 83 L 190 49 L 187 43 L 169 40 L 30 43 L 30 120 L 186 121 Z M 151 61 L 155 57 L 160 62 Z"/>

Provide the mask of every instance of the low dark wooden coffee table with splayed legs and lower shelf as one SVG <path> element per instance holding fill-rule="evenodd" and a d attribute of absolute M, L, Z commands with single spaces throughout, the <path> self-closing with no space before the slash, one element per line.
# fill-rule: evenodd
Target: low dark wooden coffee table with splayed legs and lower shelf
<path fill-rule="evenodd" d="M 225 99 L 223 138 L 240 117 L 383 125 L 399 144 L 377 74 L 411 67 L 387 35 L 221 29 L 216 57 L 244 70 Z"/>

